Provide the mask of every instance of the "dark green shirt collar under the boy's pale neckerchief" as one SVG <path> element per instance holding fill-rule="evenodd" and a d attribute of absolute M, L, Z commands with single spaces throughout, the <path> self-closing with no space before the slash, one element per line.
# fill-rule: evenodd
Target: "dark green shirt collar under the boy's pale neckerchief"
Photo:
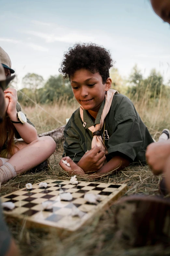
<path fill-rule="evenodd" d="M 87 129 L 87 128 L 93 126 L 93 125 L 100 124 L 100 118 L 101 118 L 101 114 L 102 114 L 102 111 L 103 111 L 104 106 L 105 106 L 105 101 L 106 101 L 106 99 L 104 98 L 104 100 L 102 102 L 102 105 L 100 106 L 100 109 L 97 113 L 95 123 L 93 122 L 89 112 L 87 110 L 83 110 L 83 121 L 84 121 L 84 123 L 86 123 L 85 129 Z"/>

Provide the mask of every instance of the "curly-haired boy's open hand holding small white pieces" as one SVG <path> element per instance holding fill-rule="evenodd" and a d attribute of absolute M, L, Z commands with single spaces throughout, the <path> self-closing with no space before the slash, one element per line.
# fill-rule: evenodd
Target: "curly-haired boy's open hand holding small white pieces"
<path fill-rule="evenodd" d="M 63 163 L 62 161 L 67 161 L 70 166 L 67 166 L 65 163 Z M 73 160 L 71 160 L 71 158 L 69 157 L 63 157 L 60 162 L 59 165 L 62 167 L 62 169 L 66 172 L 68 172 L 70 175 L 85 175 L 83 169 L 81 169 L 75 162 L 73 162 Z"/>

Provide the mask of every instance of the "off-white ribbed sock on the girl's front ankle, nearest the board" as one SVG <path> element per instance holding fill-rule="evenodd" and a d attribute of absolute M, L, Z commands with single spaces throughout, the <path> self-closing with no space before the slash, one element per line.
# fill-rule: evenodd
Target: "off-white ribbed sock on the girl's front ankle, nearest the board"
<path fill-rule="evenodd" d="M 6 182 L 8 179 L 15 177 L 16 171 L 15 168 L 8 162 L 0 167 L 0 182 Z"/>

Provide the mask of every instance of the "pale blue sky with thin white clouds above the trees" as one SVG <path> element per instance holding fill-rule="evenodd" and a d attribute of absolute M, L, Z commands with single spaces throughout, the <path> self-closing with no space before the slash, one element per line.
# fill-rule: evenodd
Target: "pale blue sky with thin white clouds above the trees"
<path fill-rule="evenodd" d="M 64 52 L 93 42 L 110 50 L 128 77 L 137 63 L 144 77 L 152 68 L 170 79 L 170 26 L 149 0 L 0 0 L 0 46 L 21 79 L 59 74 Z"/>

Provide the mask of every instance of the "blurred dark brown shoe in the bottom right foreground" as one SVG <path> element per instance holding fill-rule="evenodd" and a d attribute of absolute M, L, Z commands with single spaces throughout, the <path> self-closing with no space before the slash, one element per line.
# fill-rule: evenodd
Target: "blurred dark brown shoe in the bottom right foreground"
<path fill-rule="evenodd" d="M 131 246 L 168 244 L 170 200 L 156 196 L 127 196 L 114 204 L 117 236 Z"/>

